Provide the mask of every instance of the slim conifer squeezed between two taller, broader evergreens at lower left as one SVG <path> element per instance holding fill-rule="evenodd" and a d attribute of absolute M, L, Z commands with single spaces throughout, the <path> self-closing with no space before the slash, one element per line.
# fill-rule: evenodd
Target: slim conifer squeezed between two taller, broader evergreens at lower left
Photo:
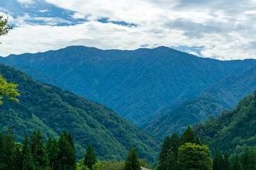
<path fill-rule="evenodd" d="M 57 166 L 57 142 L 53 140 L 52 137 L 49 137 L 48 142 L 46 143 L 46 149 L 48 154 L 49 166 L 53 169 L 56 169 Z"/>

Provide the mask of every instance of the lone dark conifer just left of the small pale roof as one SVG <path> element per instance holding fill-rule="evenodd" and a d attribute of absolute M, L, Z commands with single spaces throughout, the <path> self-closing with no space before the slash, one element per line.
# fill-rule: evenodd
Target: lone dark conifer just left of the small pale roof
<path fill-rule="evenodd" d="M 141 170 L 140 161 L 138 159 L 138 153 L 136 152 L 136 149 L 133 149 L 133 147 L 130 147 L 129 149 L 124 169 L 125 170 Z"/>

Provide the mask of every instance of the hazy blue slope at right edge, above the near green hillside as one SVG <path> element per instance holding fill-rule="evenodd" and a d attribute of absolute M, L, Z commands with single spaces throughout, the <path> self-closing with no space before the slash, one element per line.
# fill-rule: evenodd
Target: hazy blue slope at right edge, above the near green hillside
<path fill-rule="evenodd" d="M 237 75 L 227 77 L 201 92 L 199 96 L 211 98 L 229 109 L 235 108 L 247 94 L 256 89 L 256 66 Z"/>

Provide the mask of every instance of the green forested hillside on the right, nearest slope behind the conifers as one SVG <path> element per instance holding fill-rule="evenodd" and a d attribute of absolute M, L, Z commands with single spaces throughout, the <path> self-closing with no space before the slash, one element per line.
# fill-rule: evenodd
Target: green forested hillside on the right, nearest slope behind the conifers
<path fill-rule="evenodd" d="M 223 152 L 240 154 L 248 146 L 256 146 L 256 97 L 248 95 L 233 111 L 211 117 L 193 126 L 195 135 L 205 141 L 213 154 L 216 147 Z"/>

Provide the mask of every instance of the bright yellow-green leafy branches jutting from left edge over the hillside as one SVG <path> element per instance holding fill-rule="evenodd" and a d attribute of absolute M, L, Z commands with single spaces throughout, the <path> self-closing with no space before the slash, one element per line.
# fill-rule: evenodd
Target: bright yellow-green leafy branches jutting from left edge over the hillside
<path fill-rule="evenodd" d="M 7 96 L 9 101 L 18 102 L 18 99 L 13 97 L 20 96 L 16 89 L 17 86 L 18 84 L 7 83 L 6 79 L 0 75 L 0 105 L 3 103 L 3 101 L 1 101 L 3 95 Z"/>

